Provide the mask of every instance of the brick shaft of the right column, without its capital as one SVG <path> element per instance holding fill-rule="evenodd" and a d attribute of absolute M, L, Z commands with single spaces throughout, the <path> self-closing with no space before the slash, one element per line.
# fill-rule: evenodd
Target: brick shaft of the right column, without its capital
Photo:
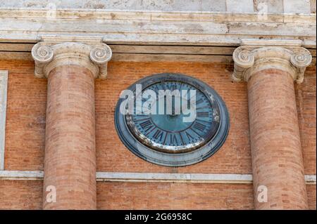
<path fill-rule="evenodd" d="M 267 69 L 248 81 L 255 209 L 307 209 L 302 148 L 292 75 Z M 258 187 L 268 202 L 258 201 Z"/>

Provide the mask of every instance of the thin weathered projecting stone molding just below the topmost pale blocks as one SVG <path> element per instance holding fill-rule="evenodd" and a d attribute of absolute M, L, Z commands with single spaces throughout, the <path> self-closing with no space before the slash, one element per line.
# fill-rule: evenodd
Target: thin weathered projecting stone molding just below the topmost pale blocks
<path fill-rule="evenodd" d="M 205 1 L 205 0 L 204 0 Z M 290 0 L 287 0 L 290 1 Z M 298 0 L 297 0 L 298 1 Z M 299 0 L 300 1 L 300 0 Z M 179 20 L 179 21 L 215 21 L 215 22 L 300 22 L 315 23 L 316 13 L 266 13 L 226 12 L 226 11 L 134 11 L 94 9 L 94 8 L 13 8 L 0 7 L 1 16 L 6 18 L 47 18 L 47 19 L 82 19 L 82 20 Z"/>

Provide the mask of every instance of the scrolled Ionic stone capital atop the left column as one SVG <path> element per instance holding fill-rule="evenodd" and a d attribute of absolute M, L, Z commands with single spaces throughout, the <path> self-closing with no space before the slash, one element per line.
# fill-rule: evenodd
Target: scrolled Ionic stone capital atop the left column
<path fill-rule="evenodd" d="M 94 77 L 104 79 L 111 56 L 111 48 L 99 38 L 42 37 L 32 48 L 35 77 L 39 78 L 47 77 L 60 65 L 80 65 L 90 70 Z"/>

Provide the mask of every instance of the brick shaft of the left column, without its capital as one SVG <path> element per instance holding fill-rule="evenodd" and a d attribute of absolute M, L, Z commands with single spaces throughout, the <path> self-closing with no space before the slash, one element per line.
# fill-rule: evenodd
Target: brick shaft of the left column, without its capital
<path fill-rule="evenodd" d="M 94 75 L 60 65 L 48 75 L 44 209 L 96 209 Z M 46 187 L 56 202 L 46 202 Z"/>

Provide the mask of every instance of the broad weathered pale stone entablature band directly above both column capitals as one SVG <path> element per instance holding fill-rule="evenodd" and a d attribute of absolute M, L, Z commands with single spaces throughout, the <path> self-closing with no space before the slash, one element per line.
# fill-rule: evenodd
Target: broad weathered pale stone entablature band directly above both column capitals
<path fill-rule="evenodd" d="M 240 39 L 303 40 L 316 47 L 316 14 L 1 9 L 0 41 L 42 35 L 101 37 L 106 44 L 239 46 Z"/>

